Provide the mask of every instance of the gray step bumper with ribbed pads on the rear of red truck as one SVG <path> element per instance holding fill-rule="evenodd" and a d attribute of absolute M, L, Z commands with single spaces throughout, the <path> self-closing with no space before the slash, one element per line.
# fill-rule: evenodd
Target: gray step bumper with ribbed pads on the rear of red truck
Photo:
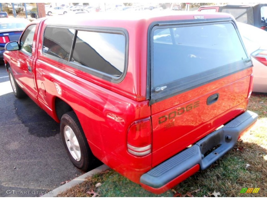
<path fill-rule="evenodd" d="M 197 164 L 200 165 L 201 170 L 206 169 L 232 149 L 239 135 L 255 123 L 257 118 L 258 115 L 256 113 L 246 111 L 221 129 L 207 135 L 192 147 L 143 174 L 140 178 L 140 183 L 152 188 L 159 188 Z M 208 150 L 217 145 L 221 146 L 204 157 Z"/>

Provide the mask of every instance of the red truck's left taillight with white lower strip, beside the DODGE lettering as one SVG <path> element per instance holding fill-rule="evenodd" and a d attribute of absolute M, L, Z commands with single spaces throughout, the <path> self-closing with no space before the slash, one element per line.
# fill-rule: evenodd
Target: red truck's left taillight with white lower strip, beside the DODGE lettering
<path fill-rule="evenodd" d="M 134 123 L 128 130 L 128 152 L 135 156 L 145 156 L 151 153 L 151 122 L 150 120 Z"/>

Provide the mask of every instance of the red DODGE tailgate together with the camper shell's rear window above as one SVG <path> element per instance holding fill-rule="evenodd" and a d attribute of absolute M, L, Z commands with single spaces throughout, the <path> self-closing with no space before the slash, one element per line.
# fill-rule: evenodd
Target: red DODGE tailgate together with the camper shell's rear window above
<path fill-rule="evenodd" d="M 234 22 L 154 26 L 152 166 L 244 112 L 252 63 Z"/>

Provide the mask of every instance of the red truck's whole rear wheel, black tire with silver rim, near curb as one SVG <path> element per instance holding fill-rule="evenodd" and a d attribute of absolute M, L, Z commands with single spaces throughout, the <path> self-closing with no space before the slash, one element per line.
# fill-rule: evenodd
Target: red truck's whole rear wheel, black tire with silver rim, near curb
<path fill-rule="evenodd" d="M 93 155 L 74 111 L 62 116 L 60 133 L 65 149 L 74 166 L 83 171 L 89 171 L 99 165 L 100 161 Z"/>

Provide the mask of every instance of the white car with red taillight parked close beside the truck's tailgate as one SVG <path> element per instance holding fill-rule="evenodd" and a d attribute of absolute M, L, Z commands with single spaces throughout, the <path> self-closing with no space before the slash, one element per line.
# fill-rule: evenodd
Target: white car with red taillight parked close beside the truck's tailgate
<path fill-rule="evenodd" d="M 237 26 L 253 62 L 253 92 L 267 93 L 267 31 L 241 22 Z"/>

